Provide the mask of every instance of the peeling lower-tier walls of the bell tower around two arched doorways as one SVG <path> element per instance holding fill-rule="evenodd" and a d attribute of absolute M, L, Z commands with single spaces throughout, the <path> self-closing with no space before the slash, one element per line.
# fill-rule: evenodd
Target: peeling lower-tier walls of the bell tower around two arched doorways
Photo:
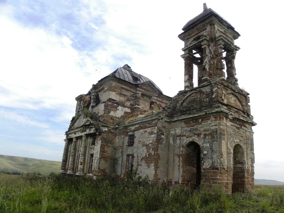
<path fill-rule="evenodd" d="M 171 123 L 168 158 L 168 182 L 186 183 L 184 170 L 185 148 L 191 141 L 201 149 L 201 180 L 219 184 L 231 193 L 233 178 L 233 147 L 240 144 L 245 152 L 248 190 L 253 187 L 254 154 L 250 125 L 220 115 L 208 115 Z M 246 150 L 246 151 L 245 151 Z"/>

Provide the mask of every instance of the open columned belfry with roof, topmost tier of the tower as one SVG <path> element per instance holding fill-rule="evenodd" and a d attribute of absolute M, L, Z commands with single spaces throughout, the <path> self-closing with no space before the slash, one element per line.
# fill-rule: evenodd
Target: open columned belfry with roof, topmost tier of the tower
<path fill-rule="evenodd" d="M 184 41 L 184 54 L 181 55 L 184 59 L 184 88 L 191 89 L 215 78 L 238 86 L 234 61 L 240 48 L 234 40 L 240 34 L 235 28 L 204 3 L 203 12 L 187 22 L 182 30 L 184 32 L 178 37 Z M 198 67 L 198 85 L 193 85 L 193 64 Z"/>

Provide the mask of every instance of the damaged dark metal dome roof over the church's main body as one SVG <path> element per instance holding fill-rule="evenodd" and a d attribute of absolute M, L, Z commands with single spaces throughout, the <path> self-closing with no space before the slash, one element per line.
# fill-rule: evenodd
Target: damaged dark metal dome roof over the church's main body
<path fill-rule="evenodd" d="M 135 84 L 151 82 L 159 90 L 159 92 L 163 94 L 162 90 L 153 81 L 151 81 L 149 78 L 146 78 L 145 76 L 133 72 L 128 64 L 125 64 L 123 67 L 118 68 L 117 70 L 109 74 L 109 76 L 114 76 L 116 78 L 120 78 L 122 80 Z"/>

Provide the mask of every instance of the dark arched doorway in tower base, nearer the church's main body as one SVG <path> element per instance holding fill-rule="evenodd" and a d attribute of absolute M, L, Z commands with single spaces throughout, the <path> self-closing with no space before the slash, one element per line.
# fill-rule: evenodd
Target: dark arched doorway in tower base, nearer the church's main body
<path fill-rule="evenodd" d="M 199 186 L 201 181 L 200 147 L 191 141 L 185 147 L 183 158 L 183 171 L 185 183 L 194 183 Z"/>

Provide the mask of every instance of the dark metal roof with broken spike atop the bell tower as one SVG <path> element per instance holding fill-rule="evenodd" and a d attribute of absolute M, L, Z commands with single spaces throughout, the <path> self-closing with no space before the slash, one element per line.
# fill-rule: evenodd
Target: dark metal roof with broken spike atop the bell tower
<path fill-rule="evenodd" d="M 204 8 L 205 10 L 200 13 L 198 16 L 196 16 L 195 18 L 189 20 L 185 26 L 182 28 L 183 31 L 187 30 L 190 27 L 193 27 L 195 24 L 201 22 L 202 20 L 204 20 L 205 18 L 208 18 L 209 16 L 215 16 L 219 19 L 221 19 L 222 21 L 224 21 L 229 28 L 231 28 L 232 30 L 235 30 L 235 28 L 227 21 L 225 20 L 225 18 L 223 18 L 222 16 L 220 16 L 217 12 L 215 12 L 214 10 L 212 10 L 211 8 L 207 9 L 207 6 Z"/>

